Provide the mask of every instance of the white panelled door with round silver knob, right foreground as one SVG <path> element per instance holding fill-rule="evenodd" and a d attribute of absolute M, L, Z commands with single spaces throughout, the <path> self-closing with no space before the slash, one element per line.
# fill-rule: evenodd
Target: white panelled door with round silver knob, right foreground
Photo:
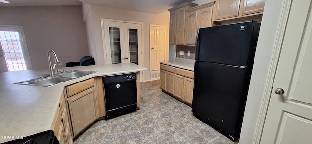
<path fill-rule="evenodd" d="M 311 0 L 285 2 L 288 20 L 261 144 L 312 144 L 311 5 Z"/>

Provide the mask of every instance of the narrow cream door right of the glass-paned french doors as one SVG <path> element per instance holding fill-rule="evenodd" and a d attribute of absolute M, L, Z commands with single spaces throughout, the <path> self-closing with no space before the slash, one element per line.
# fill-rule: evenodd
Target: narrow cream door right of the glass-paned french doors
<path fill-rule="evenodd" d="M 166 26 L 150 24 L 150 70 L 160 70 L 165 61 Z"/>

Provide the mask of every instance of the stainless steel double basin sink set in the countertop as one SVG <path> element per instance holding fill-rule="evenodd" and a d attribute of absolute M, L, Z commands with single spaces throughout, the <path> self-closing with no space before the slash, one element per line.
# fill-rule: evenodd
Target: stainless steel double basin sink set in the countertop
<path fill-rule="evenodd" d="M 78 71 L 78 70 L 70 70 L 63 72 L 55 77 L 50 76 L 42 76 L 35 79 L 30 79 L 21 82 L 15 82 L 15 84 L 23 84 L 23 85 L 33 85 L 33 86 L 51 86 L 54 84 L 58 84 L 61 82 L 66 82 L 72 79 L 76 79 L 82 76 L 86 76 L 89 74 L 95 73 L 95 71 Z"/>

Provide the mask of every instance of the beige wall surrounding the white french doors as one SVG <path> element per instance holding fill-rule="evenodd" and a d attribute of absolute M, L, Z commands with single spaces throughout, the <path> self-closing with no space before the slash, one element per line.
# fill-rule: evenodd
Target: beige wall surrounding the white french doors
<path fill-rule="evenodd" d="M 105 64 L 104 57 L 104 46 L 102 39 L 102 29 L 100 18 L 106 19 L 115 19 L 115 20 L 124 20 L 124 21 L 137 21 L 143 22 L 143 67 L 146 67 L 148 70 L 143 71 L 143 81 L 150 80 L 150 46 L 149 46 L 149 24 L 165 25 L 167 29 L 166 34 L 166 49 L 165 49 L 165 58 L 168 61 L 168 52 L 169 52 L 169 12 L 164 12 L 161 14 L 149 14 L 143 12 L 129 11 L 117 8 L 110 8 L 98 5 L 91 5 L 90 12 L 87 18 L 87 25 L 92 24 L 94 37 L 89 39 L 90 43 L 94 42 L 94 49 L 96 52 L 91 53 L 92 56 L 96 57 L 96 64 L 103 65 Z M 85 11 L 83 12 L 85 13 Z M 88 26 L 89 27 L 89 26 Z M 89 29 L 89 28 L 87 28 Z M 89 35 L 89 32 L 88 32 Z M 90 37 L 90 36 L 88 36 Z M 91 38 L 91 37 L 90 37 Z M 91 47 L 90 47 L 91 48 Z M 91 50 L 93 51 L 93 50 Z"/>

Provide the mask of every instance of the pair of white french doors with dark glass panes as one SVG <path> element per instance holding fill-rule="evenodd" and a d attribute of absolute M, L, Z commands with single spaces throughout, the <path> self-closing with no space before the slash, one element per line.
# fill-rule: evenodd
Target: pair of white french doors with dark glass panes
<path fill-rule="evenodd" d="M 141 65 L 142 25 L 102 21 L 106 64 L 135 63 Z"/>

